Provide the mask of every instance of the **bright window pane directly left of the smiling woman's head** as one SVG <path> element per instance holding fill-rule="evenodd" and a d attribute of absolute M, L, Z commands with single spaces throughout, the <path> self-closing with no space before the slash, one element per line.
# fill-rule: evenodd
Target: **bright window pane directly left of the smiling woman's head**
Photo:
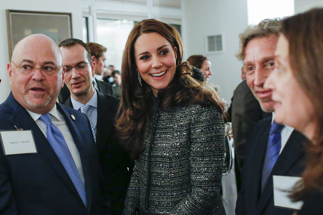
<path fill-rule="evenodd" d="M 106 65 L 121 70 L 123 51 L 134 21 L 97 19 L 97 43 L 105 46 Z"/>

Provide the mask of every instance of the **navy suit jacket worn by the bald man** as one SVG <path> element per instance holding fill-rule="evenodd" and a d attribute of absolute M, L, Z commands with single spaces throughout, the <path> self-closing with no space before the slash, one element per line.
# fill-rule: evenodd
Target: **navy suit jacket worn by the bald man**
<path fill-rule="evenodd" d="M 100 169 L 88 119 L 57 104 L 79 151 L 85 178 L 86 208 L 62 163 L 29 113 L 13 97 L 0 105 L 0 130 L 33 132 L 37 153 L 4 155 L 0 148 L 1 214 L 100 213 Z M 75 116 L 75 120 L 71 118 Z M 14 126 L 15 125 L 15 126 Z"/>

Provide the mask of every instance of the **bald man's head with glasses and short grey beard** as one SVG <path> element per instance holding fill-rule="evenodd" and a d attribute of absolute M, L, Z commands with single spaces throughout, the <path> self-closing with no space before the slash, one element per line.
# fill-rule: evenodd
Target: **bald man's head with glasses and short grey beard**
<path fill-rule="evenodd" d="M 19 41 L 8 63 L 14 98 L 27 110 L 48 113 L 63 87 L 62 54 L 58 45 L 43 34 Z"/>

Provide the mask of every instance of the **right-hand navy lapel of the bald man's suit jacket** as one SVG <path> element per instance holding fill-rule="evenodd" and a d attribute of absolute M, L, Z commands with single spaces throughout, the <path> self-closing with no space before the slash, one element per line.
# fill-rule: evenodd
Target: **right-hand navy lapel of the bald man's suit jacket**
<path fill-rule="evenodd" d="M 69 127 L 69 130 L 72 134 L 72 137 L 74 139 L 75 145 L 79 151 L 80 159 L 82 163 L 82 169 L 84 174 L 84 180 L 85 180 L 85 189 L 86 189 L 86 195 L 87 195 L 87 203 L 88 205 L 92 205 L 92 199 L 93 199 L 93 178 L 91 174 L 91 160 L 88 156 L 88 153 L 86 152 L 87 147 L 86 144 L 90 144 L 88 142 L 84 142 L 82 139 L 82 132 L 79 129 L 80 123 L 78 122 L 78 119 L 75 118 L 75 120 L 72 120 L 71 115 L 73 115 L 72 112 L 65 110 L 62 108 L 61 104 L 57 104 L 58 110 L 63 114 L 64 119 L 66 121 L 67 126 Z M 89 208 L 88 208 L 89 209 Z"/>

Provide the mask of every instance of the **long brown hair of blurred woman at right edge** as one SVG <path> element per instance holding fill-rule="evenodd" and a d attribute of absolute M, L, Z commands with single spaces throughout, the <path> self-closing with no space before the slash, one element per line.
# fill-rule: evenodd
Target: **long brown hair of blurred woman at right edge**
<path fill-rule="evenodd" d="M 323 188 L 323 8 L 281 21 L 281 33 L 289 43 L 289 63 L 301 89 L 314 104 L 318 119 L 308 159 L 292 197 L 299 200 Z"/>

